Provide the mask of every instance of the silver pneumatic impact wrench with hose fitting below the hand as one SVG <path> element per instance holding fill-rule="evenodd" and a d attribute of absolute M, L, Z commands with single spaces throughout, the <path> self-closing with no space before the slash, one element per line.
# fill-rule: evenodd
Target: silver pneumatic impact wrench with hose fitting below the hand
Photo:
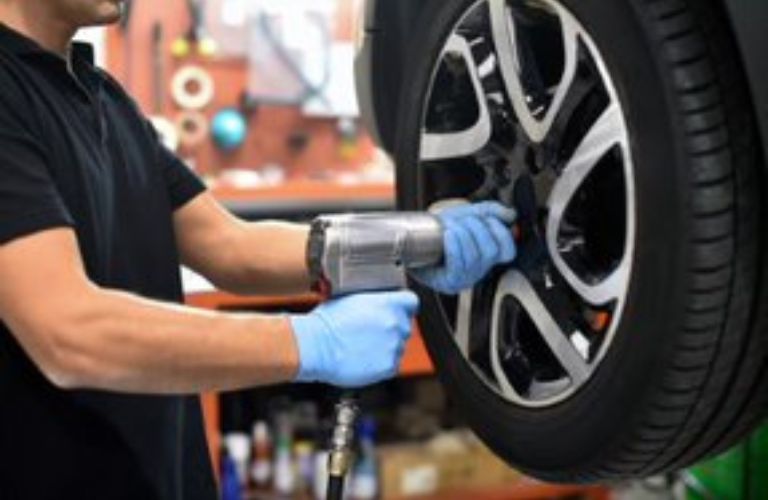
<path fill-rule="evenodd" d="M 307 256 L 313 289 L 326 298 L 397 290 L 409 269 L 443 260 L 443 227 L 424 212 L 323 216 L 312 223 Z M 328 500 L 344 496 L 358 414 L 356 395 L 345 393 L 336 405 Z"/>

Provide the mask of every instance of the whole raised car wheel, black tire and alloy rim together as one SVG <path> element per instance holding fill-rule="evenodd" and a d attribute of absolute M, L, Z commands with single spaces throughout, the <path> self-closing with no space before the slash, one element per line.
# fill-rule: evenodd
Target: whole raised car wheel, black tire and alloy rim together
<path fill-rule="evenodd" d="M 761 151 L 708 0 L 446 0 L 406 61 L 403 209 L 499 200 L 519 256 L 424 336 L 476 433 L 552 481 L 647 476 L 766 407 Z"/>

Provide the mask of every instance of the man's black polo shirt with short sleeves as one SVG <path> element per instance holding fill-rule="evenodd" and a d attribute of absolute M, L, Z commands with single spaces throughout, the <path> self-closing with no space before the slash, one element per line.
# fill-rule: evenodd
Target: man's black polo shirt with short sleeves
<path fill-rule="evenodd" d="M 172 215 L 203 185 L 89 49 L 70 71 L 0 27 L 0 245 L 71 227 L 95 283 L 178 302 Z M 195 397 L 59 390 L 0 323 L 0 401 L 0 499 L 216 497 Z"/>

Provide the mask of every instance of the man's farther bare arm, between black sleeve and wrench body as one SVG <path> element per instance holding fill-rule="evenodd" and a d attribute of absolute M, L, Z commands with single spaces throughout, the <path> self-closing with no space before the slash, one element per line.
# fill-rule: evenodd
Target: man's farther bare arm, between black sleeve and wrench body
<path fill-rule="evenodd" d="M 285 222 L 241 221 L 209 193 L 176 211 L 182 262 L 217 287 L 244 295 L 309 292 L 309 228 Z"/>

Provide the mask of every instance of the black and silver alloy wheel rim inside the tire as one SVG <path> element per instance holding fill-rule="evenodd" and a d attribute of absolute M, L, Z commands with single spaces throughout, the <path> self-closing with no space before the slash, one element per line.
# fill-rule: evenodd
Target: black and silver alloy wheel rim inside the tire
<path fill-rule="evenodd" d="M 433 69 L 418 175 L 422 206 L 518 209 L 517 261 L 458 298 L 439 296 L 462 356 L 517 405 L 575 394 L 621 321 L 635 189 L 616 89 L 569 10 L 482 0 L 463 13 Z"/>

